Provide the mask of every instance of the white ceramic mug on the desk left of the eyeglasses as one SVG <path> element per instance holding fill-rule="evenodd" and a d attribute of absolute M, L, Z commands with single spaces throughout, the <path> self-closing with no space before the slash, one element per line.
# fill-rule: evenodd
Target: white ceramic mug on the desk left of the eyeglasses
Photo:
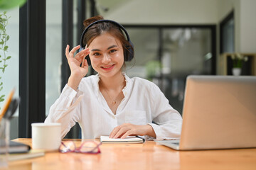
<path fill-rule="evenodd" d="M 60 123 L 32 123 L 32 148 L 55 151 L 60 147 Z"/>

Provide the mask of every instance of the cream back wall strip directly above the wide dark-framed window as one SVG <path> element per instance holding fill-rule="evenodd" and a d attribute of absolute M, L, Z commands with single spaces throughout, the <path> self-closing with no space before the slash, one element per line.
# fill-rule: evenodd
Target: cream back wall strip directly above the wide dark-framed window
<path fill-rule="evenodd" d="M 212 24 L 218 21 L 217 9 L 216 0 L 132 0 L 100 12 L 120 23 Z"/>

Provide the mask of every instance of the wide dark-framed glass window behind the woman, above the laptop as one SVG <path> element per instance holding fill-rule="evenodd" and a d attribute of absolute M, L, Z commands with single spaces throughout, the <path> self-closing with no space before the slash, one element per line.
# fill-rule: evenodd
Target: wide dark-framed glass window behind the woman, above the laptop
<path fill-rule="evenodd" d="M 134 44 L 129 77 L 149 79 L 182 113 L 186 77 L 215 74 L 215 26 L 125 26 Z"/>

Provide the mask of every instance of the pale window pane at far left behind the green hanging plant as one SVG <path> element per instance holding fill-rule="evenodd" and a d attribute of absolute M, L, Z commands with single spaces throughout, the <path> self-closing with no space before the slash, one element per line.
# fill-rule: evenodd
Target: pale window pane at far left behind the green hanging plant
<path fill-rule="evenodd" d="M 0 11 L 3 13 L 4 11 Z M 8 10 L 6 16 L 10 17 L 8 20 L 8 25 L 6 26 L 6 33 L 10 36 L 10 39 L 6 42 L 8 51 L 6 52 L 6 57 L 11 56 L 10 60 L 6 61 L 8 65 L 5 72 L 0 73 L 0 82 L 3 82 L 3 89 L 1 90 L 1 95 L 5 95 L 5 101 L 1 102 L 1 108 L 6 102 L 6 98 L 9 95 L 11 89 L 15 88 L 14 97 L 18 97 L 18 17 L 19 8 L 12 8 Z M 4 54 L 0 54 L 4 57 Z M 18 137 L 18 111 L 15 113 L 14 118 L 11 120 L 11 135 L 10 139 L 13 140 Z"/>

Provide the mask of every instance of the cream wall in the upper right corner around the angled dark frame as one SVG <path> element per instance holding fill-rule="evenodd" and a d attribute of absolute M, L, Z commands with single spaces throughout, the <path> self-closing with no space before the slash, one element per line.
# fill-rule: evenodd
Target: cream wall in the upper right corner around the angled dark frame
<path fill-rule="evenodd" d="M 236 52 L 256 52 L 255 6 L 255 0 L 219 0 L 218 2 L 219 21 L 222 21 L 234 9 Z"/>

